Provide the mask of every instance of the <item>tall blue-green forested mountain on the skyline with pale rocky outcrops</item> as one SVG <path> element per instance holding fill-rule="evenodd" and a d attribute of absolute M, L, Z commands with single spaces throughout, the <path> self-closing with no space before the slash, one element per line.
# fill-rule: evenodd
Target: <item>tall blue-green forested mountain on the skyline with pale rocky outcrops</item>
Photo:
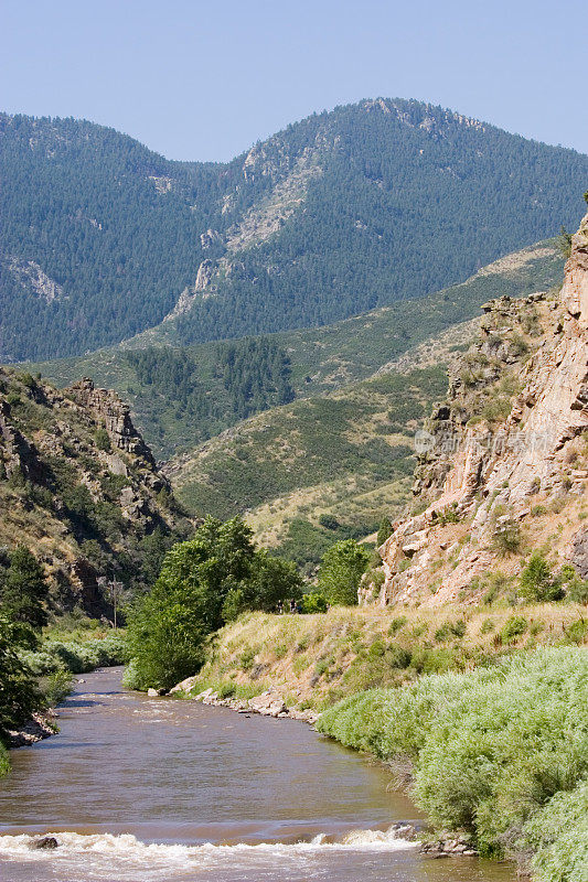
<path fill-rule="evenodd" d="M 579 216 L 588 157 L 417 101 L 313 115 L 226 164 L 0 116 L 0 358 L 325 325 L 462 281 Z"/>

